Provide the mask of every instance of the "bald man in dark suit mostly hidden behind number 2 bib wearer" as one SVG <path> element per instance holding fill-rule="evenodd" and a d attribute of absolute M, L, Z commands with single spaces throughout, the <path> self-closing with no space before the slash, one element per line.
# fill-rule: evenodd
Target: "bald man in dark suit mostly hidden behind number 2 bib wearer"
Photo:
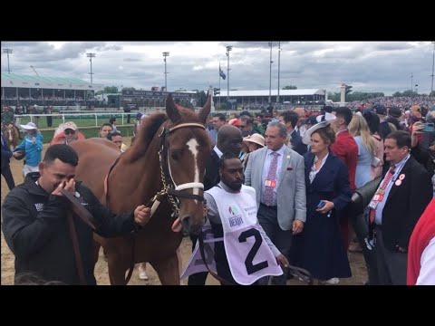
<path fill-rule="evenodd" d="M 219 158 L 226 152 L 235 153 L 237 156 L 242 149 L 242 132 L 236 126 L 224 125 L 218 130 L 218 142 L 211 152 L 206 166 L 204 176 L 204 191 L 218 185 L 219 177 Z M 190 235 L 192 240 L 192 251 L 198 241 L 198 236 Z M 189 276 L 188 285 L 205 285 L 207 272 L 194 273 Z"/>

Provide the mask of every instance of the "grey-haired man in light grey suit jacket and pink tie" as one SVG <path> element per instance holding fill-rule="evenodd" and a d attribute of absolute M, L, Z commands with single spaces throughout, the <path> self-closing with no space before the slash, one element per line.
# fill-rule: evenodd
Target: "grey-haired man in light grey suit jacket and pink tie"
<path fill-rule="evenodd" d="M 258 221 L 278 250 L 288 257 L 292 235 L 300 233 L 306 218 L 304 158 L 285 146 L 285 125 L 269 123 L 266 148 L 250 154 L 245 171 L 245 184 L 256 189 Z M 277 156 L 275 176 L 270 168 Z M 275 169 L 275 168 L 274 168 Z M 265 191 L 273 188 L 272 200 Z M 285 285 L 286 272 L 274 277 L 276 285 Z"/>

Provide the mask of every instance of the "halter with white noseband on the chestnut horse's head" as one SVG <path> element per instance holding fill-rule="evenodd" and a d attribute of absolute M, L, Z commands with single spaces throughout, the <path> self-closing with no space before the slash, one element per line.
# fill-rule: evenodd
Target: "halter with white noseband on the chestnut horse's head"
<path fill-rule="evenodd" d="M 179 204 L 176 203 L 174 197 L 176 197 L 177 199 L 188 198 L 188 199 L 194 199 L 194 200 L 205 202 L 203 196 L 186 194 L 184 192 L 181 192 L 181 190 L 190 189 L 190 188 L 204 189 L 204 184 L 200 182 L 188 182 L 188 183 L 177 185 L 174 181 L 174 178 L 172 177 L 172 172 L 169 164 L 169 151 L 168 151 L 169 134 L 176 129 L 192 128 L 192 127 L 201 128 L 204 130 L 206 129 L 204 125 L 200 123 L 189 122 L 189 123 L 181 123 L 172 128 L 163 127 L 159 134 L 159 138 L 160 138 L 159 160 L 160 160 L 161 181 L 163 183 L 163 189 L 162 191 L 160 191 L 160 194 L 166 193 L 168 195 L 169 201 L 174 207 L 175 216 L 179 215 Z"/>

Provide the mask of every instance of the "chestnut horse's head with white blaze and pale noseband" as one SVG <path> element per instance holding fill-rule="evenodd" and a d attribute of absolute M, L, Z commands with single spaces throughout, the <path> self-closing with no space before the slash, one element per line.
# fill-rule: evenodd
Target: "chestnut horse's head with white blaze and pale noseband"
<path fill-rule="evenodd" d="M 162 151 L 162 159 L 166 161 L 164 174 L 173 183 L 169 194 L 179 199 L 179 219 L 174 230 L 180 231 L 182 225 L 190 234 L 196 235 L 204 223 L 203 179 L 211 152 L 204 125 L 210 108 L 210 97 L 197 114 L 176 105 L 169 94 L 166 101 L 169 121 L 160 130 L 160 149 L 163 141 L 165 144 Z"/>

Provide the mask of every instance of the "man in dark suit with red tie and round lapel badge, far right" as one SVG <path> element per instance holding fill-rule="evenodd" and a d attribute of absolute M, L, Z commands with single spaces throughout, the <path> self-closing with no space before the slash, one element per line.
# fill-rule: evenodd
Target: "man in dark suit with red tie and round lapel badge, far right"
<path fill-rule="evenodd" d="M 380 284 L 405 285 L 411 233 L 432 198 L 428 171 L 410 155 L 411 136 L 393 131 L 385 141 L 391 164 L 370 203 L 369 245 L 374 245 Z"/>

